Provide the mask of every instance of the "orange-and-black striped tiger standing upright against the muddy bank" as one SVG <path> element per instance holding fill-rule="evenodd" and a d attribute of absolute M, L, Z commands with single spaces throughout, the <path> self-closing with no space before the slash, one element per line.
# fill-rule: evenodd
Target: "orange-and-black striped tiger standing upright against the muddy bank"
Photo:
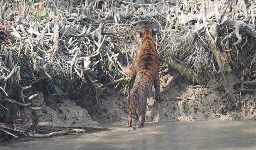
<path fill-rule="evenodd" d="M 135 77 L 135 82 L 130 91 L 128 100 L 128 127 L 132 126 L 136 130 L 135 115 L 139 120 L 139 126 L 143 127 L 145 123 L 145 111 L 147 97 L 151 92 L 152 86 L 155 88 L 155 100 L 160 99 L 160 80 L 159 80 L 159 60 L 154 44 L 154 36 L 157 29 L 150 30 L 144 28 L 138 32 L 138 40 L 141 46 L 135 58 L 135 62 L 130 68 L 125 69 L 125 73 Z"/>

